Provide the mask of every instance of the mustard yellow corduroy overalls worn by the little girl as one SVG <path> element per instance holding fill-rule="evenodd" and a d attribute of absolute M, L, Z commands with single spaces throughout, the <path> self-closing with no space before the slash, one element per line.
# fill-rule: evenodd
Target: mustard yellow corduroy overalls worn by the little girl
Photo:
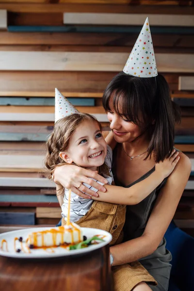
<path fill-rule="evenodd" d="M 95 201 L 86 215 L 76 221 L 76 224 L 81 227 L 98 228 L 110 232 L 113 236 L 110 245 L 114 245 L 123 240 L 122 229 L 125 223 L 125 214 L 125 205 Z M 62 226 L 65 224 L 66 221 L 63 218 Z M 113 266 L 112 272 L 114 291 L 130 291 L 140 282 L 157 285 L 155 279 L 138 261 Z"/>

